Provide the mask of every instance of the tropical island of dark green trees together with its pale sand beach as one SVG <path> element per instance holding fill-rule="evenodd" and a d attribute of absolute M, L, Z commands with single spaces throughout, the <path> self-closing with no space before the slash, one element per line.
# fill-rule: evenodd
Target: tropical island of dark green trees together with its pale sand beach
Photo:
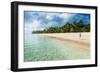
<path fill-rule="evenodd" d="M 63 26 L 48 27 L 44 30 L 32 31 L 32 34 L 85 44 L 85 46 L 88 47 L 90 46 L 90 24 L 86 24 L 82 20 L 72 23 L 67 22 Z"/>

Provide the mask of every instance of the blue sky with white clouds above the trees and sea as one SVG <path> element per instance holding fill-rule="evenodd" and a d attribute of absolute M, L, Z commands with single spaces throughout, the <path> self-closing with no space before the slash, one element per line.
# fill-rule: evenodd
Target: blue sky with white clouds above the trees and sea
<path fill-rule="evenodd" d="M 25 32 L 30 33 L 48 27 L 60 27 L 67 22 L 72 23 L 80 20 L 85 24 L 90 24 L 90 14 L 24 11 Z"/>

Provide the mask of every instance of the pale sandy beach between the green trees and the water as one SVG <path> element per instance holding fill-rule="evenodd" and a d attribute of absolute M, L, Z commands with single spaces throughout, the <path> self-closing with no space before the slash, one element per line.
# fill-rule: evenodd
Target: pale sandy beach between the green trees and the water
<path fill-rule="evenodd" d="M 62 41 L 68 41 L 74 47 L 90 48 L 90 32 L 87 33 L 42 33 L 38 35 L 56 38 Z M 81 37 L 80 37 L 81 35 Z"/>

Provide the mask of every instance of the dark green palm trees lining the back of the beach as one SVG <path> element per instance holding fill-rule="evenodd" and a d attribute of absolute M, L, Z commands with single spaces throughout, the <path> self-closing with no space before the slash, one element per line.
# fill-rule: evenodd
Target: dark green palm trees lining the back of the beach
<path fill-rule="evenodd" d="M 66 32 L 90 32 L 90 24 L 84 24 L 82 20 L 79 22 L 66 23 L 61 27 L 49 27 L 43 31 L 33 31 L 32 33 L 66 33 Z"/>

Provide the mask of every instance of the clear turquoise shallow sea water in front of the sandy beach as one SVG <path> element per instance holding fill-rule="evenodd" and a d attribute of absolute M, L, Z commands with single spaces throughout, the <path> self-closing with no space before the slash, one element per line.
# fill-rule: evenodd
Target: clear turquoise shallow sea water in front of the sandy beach
<path fill-rule="evenodd" d="M 89 50 L 69 47 L 68 41 L 62 41 L 38 34 L 25 35 L 25 62 L 88 58 L 90 58 Z"/>

